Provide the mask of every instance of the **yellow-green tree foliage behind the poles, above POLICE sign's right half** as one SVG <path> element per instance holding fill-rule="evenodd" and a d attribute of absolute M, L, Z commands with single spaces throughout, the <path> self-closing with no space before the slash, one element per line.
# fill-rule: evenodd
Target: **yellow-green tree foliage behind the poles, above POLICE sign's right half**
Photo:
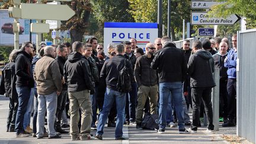
<path fill-rule="evenodd" d="M 156 23 L 157 21 L 157 5 L 158 1 L 155 0 L 129 0 L 130 8 L 129 11 L 136 22 L 142 23 Z M 178 40 L 180 37 L 175 37 L 175 33 L 182 33 L 183 30 L 183 19 L 187 22 L 190 21 L 190 0 L 171 1 L 171 35 L 173 40 Z M 162 1 L 162 18 L 165 28 L 167 28 L 167 6 L 168 1 Z M 176 35 L 180 36 L 180 34 Z"/>

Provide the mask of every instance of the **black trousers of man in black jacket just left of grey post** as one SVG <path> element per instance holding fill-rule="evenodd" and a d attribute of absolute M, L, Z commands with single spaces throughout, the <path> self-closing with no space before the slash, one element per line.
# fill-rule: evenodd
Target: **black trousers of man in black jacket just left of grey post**
<path fill-rule="evenodd" d="M 207 119 L 209 121 L 208 129 L 213 130 L 213 110 L 212 110 L 212 88 L 211 87 L 194 87 L 191 88 L 192 104 L 193 104 L 193 124 L 192 129 L 197 130 L 200 119 L 200 103 L 202 100 Z"/>

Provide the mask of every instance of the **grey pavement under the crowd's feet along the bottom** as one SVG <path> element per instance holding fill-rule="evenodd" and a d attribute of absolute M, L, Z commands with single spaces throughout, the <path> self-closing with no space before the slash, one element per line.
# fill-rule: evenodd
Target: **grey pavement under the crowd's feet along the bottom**
<path fill-rule="evenodd" d="M 87 141 L 71 141 L 71 136 L 68 134 L 62 135 L 61 139 L 36 139 L 35 137 L 16 138 L 15 133 L 5 132 L 6 121 L 8 114 L 8 98 L 0 96 L 0 144 L 2 143 L 14 143 L 14 144 L 30 144 L 30 143 L 229 143 L 226 142 L 224 137 L 235 137 L 236 127 L 222 127 L 219 131 L 208 134 L 204 133 L 206 127 L 200 127 L 197 133 L 179 134 L 178 128 L 167 128 L 165 133 L 159 134 L 154 130 L 137 130 L 135 126 L 124 126 L 124 136 L 129 136 L 129 140 L 114 140 L 114 128 L 105 127 L 103 140 L 87 140 Z M 31 119 L 32 123 L 32 119 Z M 31 124 L 32 125 L 32 124 Z M 188 129 L 189 127 L 187 127 Z M 69 129 L 67 129 L 69 130 Z M 95 135 L 95 130 L 92 130 L 92 134 Z M 246 140 L 242 141 L 247 143 Z"/>

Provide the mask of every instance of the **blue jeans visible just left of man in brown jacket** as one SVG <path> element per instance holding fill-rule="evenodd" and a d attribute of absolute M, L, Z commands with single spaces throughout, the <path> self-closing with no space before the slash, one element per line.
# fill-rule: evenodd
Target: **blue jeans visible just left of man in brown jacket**
<path fill-rule="evenodd" d="M 31 88 L 30 99 L 28 100 L 27 110 L 24 114 L 24 122 L 23 122 L 24 129 L 26 129 L 27 126 L 30 126 L 31 113 L 33 112 L 33 109 L 34 109 L 34 88 Z"/>

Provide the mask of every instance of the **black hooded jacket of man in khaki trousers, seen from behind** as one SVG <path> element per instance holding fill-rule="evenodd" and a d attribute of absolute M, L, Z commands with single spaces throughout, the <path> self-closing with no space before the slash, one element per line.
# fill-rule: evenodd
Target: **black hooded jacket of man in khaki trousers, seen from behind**
<path fill-rule="evenodd" d="M 84 91 L 94 89 L 94 82 L 88 60 L 81 53 L 73 52 L 64 65 L 63 75 L 68 82 L 68 91 Z"/>

